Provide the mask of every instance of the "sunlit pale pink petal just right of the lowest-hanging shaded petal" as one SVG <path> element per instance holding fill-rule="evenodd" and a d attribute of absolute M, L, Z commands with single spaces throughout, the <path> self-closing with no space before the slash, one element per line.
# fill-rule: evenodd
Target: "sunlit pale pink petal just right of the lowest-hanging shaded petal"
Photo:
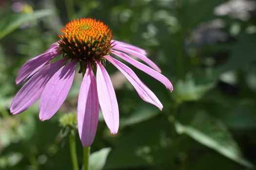
<path fill-rule="evenodd" d="M 97 61 L 97 90 L 98 101 L 103 118 L 112 134 L 118 132 L 119 111 L 114 87 L 106 69 Z"/>

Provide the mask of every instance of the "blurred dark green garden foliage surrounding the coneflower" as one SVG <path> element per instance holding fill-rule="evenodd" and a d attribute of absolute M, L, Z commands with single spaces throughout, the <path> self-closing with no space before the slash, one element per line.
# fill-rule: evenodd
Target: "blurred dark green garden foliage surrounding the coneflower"
<path fill-rule="evenodd" d="M 38 103 L 16 116 L 9 106 L 20 67 L 80 17 L 99 19 L 114 39 L 145 49 L 174 85 L 170 93 L 131 66 L 162 102 L 160 112 L 106 65 L 120 128 L 111 135 L 100 115 L 93 170 L 254 169 L 256 0 L 0 0 L 0 170 L 72 170 L 59 119 L 76 113 L 81 75 L 48 121 L 39 120 Z M 77 152 L 81 164 L 78 134 Z"/>

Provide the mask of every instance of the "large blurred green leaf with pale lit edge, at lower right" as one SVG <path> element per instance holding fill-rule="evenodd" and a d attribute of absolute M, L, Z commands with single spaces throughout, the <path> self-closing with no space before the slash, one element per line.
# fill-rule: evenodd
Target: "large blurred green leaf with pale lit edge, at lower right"
<path fill-rule="evenodd" d="M 236 141 L 232 138 L 226 126 L 218 119 L 198 113 L 188 125 L 175 123 L 178 134 L 187 134 L 197 142 L 216 150 L 218 153 L 247 167 L 254 166 L 240 152 Z"/>

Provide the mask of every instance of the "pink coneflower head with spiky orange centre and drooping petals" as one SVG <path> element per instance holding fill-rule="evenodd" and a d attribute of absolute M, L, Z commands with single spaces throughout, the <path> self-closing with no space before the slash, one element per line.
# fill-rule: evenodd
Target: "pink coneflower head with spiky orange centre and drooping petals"
<path fill-rule="evenodd" d="M 120 58 L 157 79 L 170 91 L 171 82 L 160 74 L 158 66 L 146 57 L 146 51 L 136 46 L 112 39 L 112 32 L 103 22 L 91 18 L 81 18 L 66 24 L 59 34 L 60 40 L 51 45 L 43 54 L 27 61 L 16 78 L 19 85 L 31 77 L 16 94 L 11 113 L 19 114 L 39 99 L 39 119 L 50 119 L 65 101 L 74 80 L 75 67 L 80 65 L 79 73 L 84 77 L 78 98 L 78 130 L 84 147 L 94 140 L 99 106 L 103 118 L 112 134 L 118 132 L 118 102 L 110 77 L 104 68 L 109 61 L 134 86 L 145 102 L 163 106 L 156 95 L 138 78 L 134 71 L 116 58 Z M 49 62 L 63 54 L 63 58 Z M 148 66 L 131 58 L 128 54 L 145 62 Z M 114 57 L 113 57 L 114 56 Z M 97 68 L 96 78 L 93 68 Z"/>

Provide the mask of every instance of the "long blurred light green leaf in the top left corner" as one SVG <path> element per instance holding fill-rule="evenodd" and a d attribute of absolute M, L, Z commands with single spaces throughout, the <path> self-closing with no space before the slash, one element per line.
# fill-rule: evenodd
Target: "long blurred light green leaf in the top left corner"
<path fill-rule="evenodd" d="M 37 10 L 29 14 L 12 14 L 7 17 L 1 18 L 0 21 L 0 39 L 2 39 L 7 34 L 12 33 L 17 28 L 33 20 L 37 20 L 42 17 L 50 16 L 54 12 L 49 9 Z"/>

